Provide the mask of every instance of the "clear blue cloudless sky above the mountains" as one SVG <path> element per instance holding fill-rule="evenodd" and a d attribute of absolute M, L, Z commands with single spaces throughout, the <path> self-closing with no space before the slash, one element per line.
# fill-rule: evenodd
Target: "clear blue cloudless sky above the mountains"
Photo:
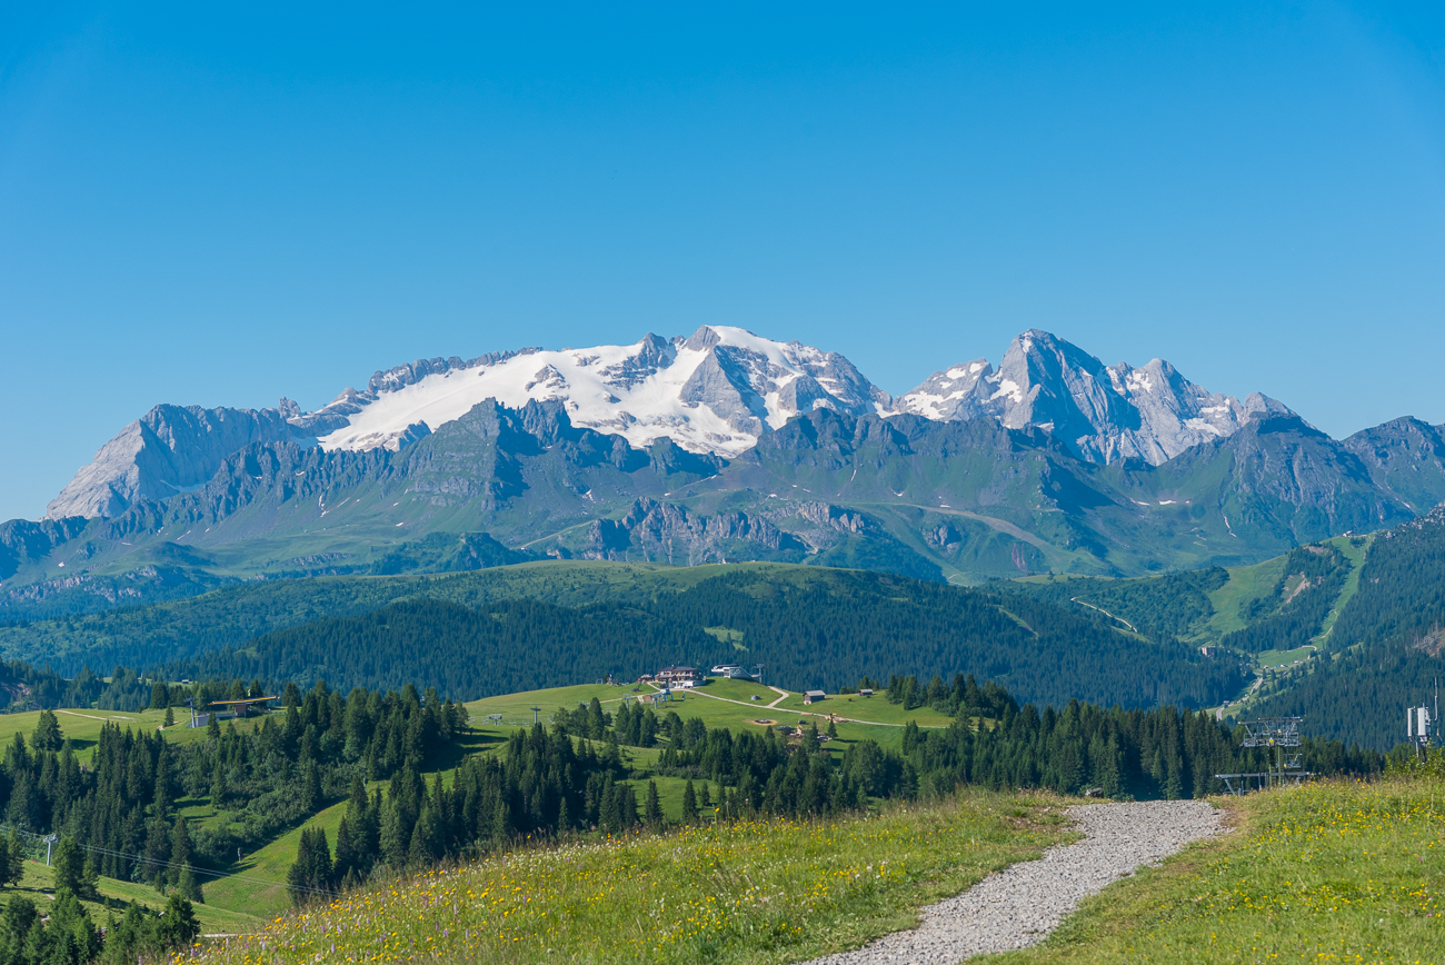
<path fill-rule="evenodd" d="M 701 324 L 1445 422 L 1439 4 L 51 6 L 0 12 L 0 519 L 159 402 Z"/>

